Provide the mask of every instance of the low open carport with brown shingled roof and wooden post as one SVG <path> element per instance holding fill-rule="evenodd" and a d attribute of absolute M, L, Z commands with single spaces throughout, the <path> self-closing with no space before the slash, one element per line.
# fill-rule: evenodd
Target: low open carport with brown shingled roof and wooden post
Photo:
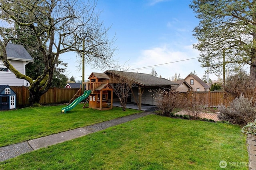
<path fill-rule="evenodd" d="M 113 76 L 111 75 L 124 76 L 129 79 L 132 78 L 132 80 L 136 83 L 136 86 L 131 89 L 131 102 L 136 103 L 139 109 L 141 109 L 142 104 L 156 105 L 157 101 L 152 96 L 153 93 L 150 92 L 150 90 L 157 90 L 160 87 L 171 88 L 172 86 L 178 85 L 164 78 L 159 78 L 144 73 L 123 72 L 114 70 L 107 70 L 104 73 L 106 73 L 110 77 L 109 82 L 112 82 Z"/>

